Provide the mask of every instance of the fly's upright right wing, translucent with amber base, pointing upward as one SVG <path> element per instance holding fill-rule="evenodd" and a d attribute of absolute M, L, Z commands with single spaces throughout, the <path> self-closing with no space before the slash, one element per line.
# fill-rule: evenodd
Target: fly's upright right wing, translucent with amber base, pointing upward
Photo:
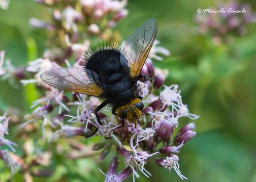
<path fill-rule="evenodd" d="M 140 74 L 154 43 L 156 32 L 157 23 L 156 20 L 152 18 L 141 25 L 125 41 L 121 53 L 128 61 L 132 77 L 137 77 Z"/>

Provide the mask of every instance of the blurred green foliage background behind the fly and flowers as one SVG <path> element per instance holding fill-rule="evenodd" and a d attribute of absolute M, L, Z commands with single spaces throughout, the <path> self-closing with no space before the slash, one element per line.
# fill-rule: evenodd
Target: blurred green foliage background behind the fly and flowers
<path fill-rule="evenodd" d="M 179 154 L 182 174 L 189 181 L 256 181 L 256 24 L 247 26 L 247 34 L 234 37 L 231 44 L 214 45 L 210 37 L 197 33 L 194 17 L 198 8 L 221 2 L 132 0 L 127 5 L 129 15 L 115 29 L 126 38 L 147 18 L 154 17 L 158 22 L 157 39 L 171 56 L 154 64 L 168 68 L 167 83 L 179 84 L 190 112 L 201 116 L 195 121 L 197 136 Z M 249 3 L 256 10 L 254 0 L 241 3 Z M 15 66 L 42 56 L 45 49 L 46 33 L 30 28 L 31 17 L 47 17 L 46 9 L 31 0 L 11 0 L 8 10 L 0 9 L 0 50 L 6 50 L 6 58 Z M 28 56 L 31 41 L 37 49 Z M 0 87 L 1 110 L 15 107 L 29 112 L 31 101 L 27 96 L 33 95 L 28 93 L 29 86 L 14 89 L 1 81 Z M 73 165 L 65 158 L 55 160 Z M 101 168 L 107 169 L 109 160 L 100 162 Z M 76 166 L 79 177 L 67 172 L 68 167 L 56 170 L 68 173 L 65 181 L 104 178 L 93 160 L 81 159 Z M 181 180 L 174 171 L 169 173 L 153 162 L 147 164 L 147 169 L 153 176 L 136 181 Z"/>

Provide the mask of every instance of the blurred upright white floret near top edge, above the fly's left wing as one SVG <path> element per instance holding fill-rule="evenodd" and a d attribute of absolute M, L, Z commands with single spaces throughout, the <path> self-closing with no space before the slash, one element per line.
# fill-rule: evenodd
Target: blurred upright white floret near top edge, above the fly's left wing
<path fill-rule="evenodd" d="M 81 14 L 79 12 L 69 6 L 63 10 L 62 17 L 65 19 L 65 27 L 67 30 L 72 28 L 74 32 L 78 31 L 75 21 L 81 18 Z"/>

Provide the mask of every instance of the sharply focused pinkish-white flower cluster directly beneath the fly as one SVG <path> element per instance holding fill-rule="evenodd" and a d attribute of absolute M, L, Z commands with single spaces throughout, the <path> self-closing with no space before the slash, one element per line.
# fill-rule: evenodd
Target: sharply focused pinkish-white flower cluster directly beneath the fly
<path fill-rule="evenodd" d="M 89 136 L 96 128 L 96 135 L 102 140 L 95 144 L 92 149 L 101 150 L 100 159 L 104 159 L 111 150 L 115 149 L 117 154 L 111 161 L 105 181 L 122 181 L 133 176 L 140 177 L 140 172 L 146 177 L 151 173 L 145 166 L 148 160 L 155 160 L 156 164 L 174 171 L 182 178 L 186 179 L 179 170 L 179 158 L 177 154 L 182 146 L 196 135 L 193 122 L 184 125 L 176 131 L 179 125 L 179 118 L 187 117 L 197 119 L 199 116 L 191 114 L 187 105 L 182 102 L 178 85 L 165 86 L 165 76 L 156 75 L 150 59 L 145 63 L 144 73 L 149 77 L 147 80 L 138 81 L 139 93 L 144 98 L 145 108 L 139 123 L 125 121 L 124 126 L 118 116 L 109 116 L 109 110 L 98 112 L 102 124 L 99 124 L 95 114 L 95 106 L 100 104 L 98 98 L 85 95 L 74 94 L 73 102 L 69 106 L 77 107 L 75 116 L 65 114 L 69 117 L 69 123 L 79 123 L 79 127 L 60 124 L 61 127 L 51 136 L 50 141 L 59 136 L 70 138 L 76 135 Z M 158 71 L 159 72 L 159 71 Z M 154 95 L 159 88 L 159 96 Z M 118 158 L 122 158 L 125 167 L 119 173 L 116 172 Z"/>

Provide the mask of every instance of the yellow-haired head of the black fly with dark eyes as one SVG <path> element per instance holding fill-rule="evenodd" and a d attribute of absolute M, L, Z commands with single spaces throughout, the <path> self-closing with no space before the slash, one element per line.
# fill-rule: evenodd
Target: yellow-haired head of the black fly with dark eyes
<path fill-rule="evenodd" d="M 136 98 L 130 103 L 117 108 L 116 114 L 122 119 L 127 119 L 130 122 L 136 123 L 140 118 L 143 107 L 144 105 L 142 101 L 139 98 Z"/>

